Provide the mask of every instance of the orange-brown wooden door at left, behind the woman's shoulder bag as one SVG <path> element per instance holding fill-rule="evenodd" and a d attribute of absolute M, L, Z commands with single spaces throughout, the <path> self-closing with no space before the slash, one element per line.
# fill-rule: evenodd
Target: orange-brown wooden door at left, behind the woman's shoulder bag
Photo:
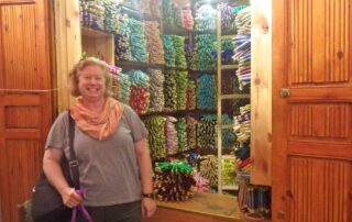
<path fill-rule="evenodd" d="M 16 206 L 31 197 L 52 122 L 48 2 L 0 0 L 0 192 L 4 222 L 19 221 Z"/>

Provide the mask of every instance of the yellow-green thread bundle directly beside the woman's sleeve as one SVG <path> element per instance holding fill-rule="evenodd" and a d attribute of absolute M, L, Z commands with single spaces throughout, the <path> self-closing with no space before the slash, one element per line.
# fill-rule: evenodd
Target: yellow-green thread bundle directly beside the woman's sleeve
<path fill-rule="evenodd" d="M 166 157 L 166 138 L 165 124 L 166 118 L 161 115 L 153 115 L 144 121 L 147 130 L 147 143 L 151 149 L 152 159 L 161 159 Z"/>

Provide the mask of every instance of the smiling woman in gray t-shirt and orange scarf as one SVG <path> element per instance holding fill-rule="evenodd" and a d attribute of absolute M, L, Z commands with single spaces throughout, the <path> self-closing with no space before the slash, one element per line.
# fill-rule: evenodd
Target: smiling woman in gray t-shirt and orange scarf
<path fill-rule="evenodd" d="M 129 106 L 111 98 L 111 76 L 105 62 L 80 60 L 69 78 L 72 95 L 78 97 L 70 114 L 76 122 L 74 147 L 80 186 L 86 189 L 84 200 L 68 186 L 59 166 L 62 156 L 69 154 L 67 111 L 50 131 L 43 160 L 45 175 L 67 207 L 82 201 L 95 222 L 134 222 L 142 215 L 152 217 L 156 204 L 142 121 Z"/>

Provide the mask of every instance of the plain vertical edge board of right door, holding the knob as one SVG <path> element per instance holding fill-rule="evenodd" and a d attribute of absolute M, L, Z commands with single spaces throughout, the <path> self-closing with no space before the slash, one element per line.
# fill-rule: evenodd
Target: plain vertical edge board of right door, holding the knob
<path fill-rule="evenodd" d="M 279 91 L 284 82 L 287 82 L 285 63 L 287 63 L 286 36 L 287 36 L 287 11 L 286 1 L 273 0 L 273 147 L 272 147 L 272 221 L 287 221 L 287 199 L 285 187 L 287 180 L 287 126 L 283 122 L 274 122 L 275 119 L 283 120 L 287 113 L 287 100 L 280 98 Z M 283 63 L 283 60 L 285 63 Z M 278 63 L 279 62 L 279 63 Z M 286 186 L 283 186 L 283 182 Z"/>

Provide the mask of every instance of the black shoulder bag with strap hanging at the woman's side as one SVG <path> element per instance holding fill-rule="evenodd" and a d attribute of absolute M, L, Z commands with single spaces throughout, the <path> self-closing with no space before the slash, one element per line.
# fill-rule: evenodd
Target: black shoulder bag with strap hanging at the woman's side
<path fill-rule="evenodd" d="M 78 162 L 74 151 L 75 121 L 68 111 L 68 132 L 70 160 L 63 155 L 61 166 L 65 179 L 70 187 L 79 189 Z M 43 174 L 33 188 L 32 208 L 33 222 L 65 222 L 70 221 L 72 209 L 63 203 L 59 192 L 48 182 Z"/>

